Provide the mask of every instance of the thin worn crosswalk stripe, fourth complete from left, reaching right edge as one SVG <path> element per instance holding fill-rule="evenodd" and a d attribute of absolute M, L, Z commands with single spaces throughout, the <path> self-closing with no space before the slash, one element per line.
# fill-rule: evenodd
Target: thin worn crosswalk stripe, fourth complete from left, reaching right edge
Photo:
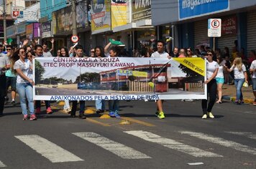
<path fill-rule="evenodd" d="M 239 151 L 242 151 L 242 152 L 245 152 L 245 153 L 250 153 L 250 154 L 256 155 L 256 149 L 255 148 L 251 148 L 247 145 L 242 145 L 242 144 L 236 143 L 234 141 L 224 140 L 221 137 L 214 137 L 212 135 L 206 135 L 206 134 L 201 133 L 201 132 L 181 131 L 180 133 L 186 134 L 186 135 L 191 135 L 193 137 L 198 137 L 202 140 L 206 140 L 206 141 L 209 141 L 211 143 L 222 145 L 222 146 L 227 147 L 227 148 L 234 148 L 235 150 L 239 150 Z"/>

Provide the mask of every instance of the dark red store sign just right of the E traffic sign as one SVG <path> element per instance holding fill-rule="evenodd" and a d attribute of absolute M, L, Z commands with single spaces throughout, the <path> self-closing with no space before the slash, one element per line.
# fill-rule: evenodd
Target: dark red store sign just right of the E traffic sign
<path fill-rule="evenodd" d="M 221 34 L 237 34 L 237 17 L 222 19 Z"/>

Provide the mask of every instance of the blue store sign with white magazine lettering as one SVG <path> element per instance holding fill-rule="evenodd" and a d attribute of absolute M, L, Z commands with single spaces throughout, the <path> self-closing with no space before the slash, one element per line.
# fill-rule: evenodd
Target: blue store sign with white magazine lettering
<path fill-rule="evenodd" d="M 179 20 L 229 10 L 229 0 L 178 0 Z"/>

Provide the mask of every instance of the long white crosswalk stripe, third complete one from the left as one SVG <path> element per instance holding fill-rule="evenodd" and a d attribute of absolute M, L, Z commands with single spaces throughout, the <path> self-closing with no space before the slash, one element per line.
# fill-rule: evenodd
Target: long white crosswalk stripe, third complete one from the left
<path fill-rule="evenodd" d="M 129 135 L 134 135 L 136 137 L 140 137 L 143 140 L 147 140 L 152 143 L 157 143 L 159 145 L 163 145 L 167 148 L 178 150 L 182 153 L 186 153 L 189 155 L 193 155 L 194 157 L 223 157 L 222 155 L 218 155 L 215 153 L 211 153 L 205 150 L 201 150 L 199 148 L 192 147 L 190 145 L 185 145 L 183 143 L 177 142 L 170 138 L 161 137 L 160 135 L 155 135 L 152 132 L 146 132 L 142 130 L 134 130 L 134 131 L 126 131 Z"/>

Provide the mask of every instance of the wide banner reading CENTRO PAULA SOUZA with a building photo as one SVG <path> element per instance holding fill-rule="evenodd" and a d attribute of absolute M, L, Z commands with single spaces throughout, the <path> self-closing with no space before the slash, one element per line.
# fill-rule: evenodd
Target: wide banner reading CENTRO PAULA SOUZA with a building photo
<path fill-rule="evenodd" d="M 201 58 L 37 57 L 35 100 L 206 99 Z"/>

